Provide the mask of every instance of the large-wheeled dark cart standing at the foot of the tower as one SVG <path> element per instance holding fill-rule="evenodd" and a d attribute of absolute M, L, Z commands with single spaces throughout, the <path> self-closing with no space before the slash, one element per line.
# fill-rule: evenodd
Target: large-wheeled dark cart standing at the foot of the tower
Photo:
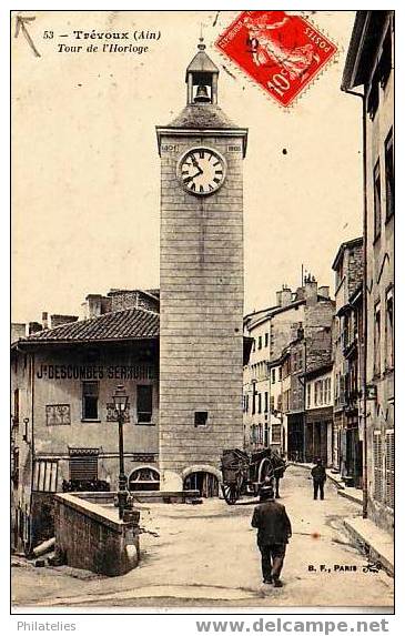
<path fill-rule="evenodd" d="M 244 494 L 256 496 L 266 477 L 275 477 L 284 470 L 284 460 L 271 448 L 251 454 L 239 448 L 223 451 L 221 488 L 225 502 L 233 505 Z"/>

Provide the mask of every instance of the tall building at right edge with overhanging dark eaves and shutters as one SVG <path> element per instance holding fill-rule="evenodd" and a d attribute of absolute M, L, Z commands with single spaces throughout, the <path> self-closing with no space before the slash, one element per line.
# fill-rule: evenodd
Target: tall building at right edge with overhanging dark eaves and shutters
<path fill-rule="evenodd" d="M 358 11 L 342 90 L 363 100 L 364 514 L 389 532 L 395 474 L 393 51 L 394 11 Z"/>

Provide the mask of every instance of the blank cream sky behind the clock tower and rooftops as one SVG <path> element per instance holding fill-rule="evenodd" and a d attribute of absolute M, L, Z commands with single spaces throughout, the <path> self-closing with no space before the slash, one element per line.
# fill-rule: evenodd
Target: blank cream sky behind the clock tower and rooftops
<path fill-rule="evenodd" d="M 275 304 L 282 284 L 300 285 L 302 264 L 333 292 L 338 246 L 362 233 L 361 100 L 340 90 L 355 12 L 297 13 L 338 54 L 288 110 L 214 48 L 239 11 L 27 13 L 36 17 L 29 32 L 40 57 L 21 34 L 12 38 L 14 322 L 42 311 L 79 314 L 87 294 L 111 287 L 159 286 L 155 125 L 185 104 L 201 23 L 220 68 L 219 103 L 249 128 L 245 312 Z M 73 31 L 92 30 L 160 39 L 143 41 L 142 54 L 88 52 L 95 40 Z M 60 52 L 61 43 L 84 48 Z"/>

